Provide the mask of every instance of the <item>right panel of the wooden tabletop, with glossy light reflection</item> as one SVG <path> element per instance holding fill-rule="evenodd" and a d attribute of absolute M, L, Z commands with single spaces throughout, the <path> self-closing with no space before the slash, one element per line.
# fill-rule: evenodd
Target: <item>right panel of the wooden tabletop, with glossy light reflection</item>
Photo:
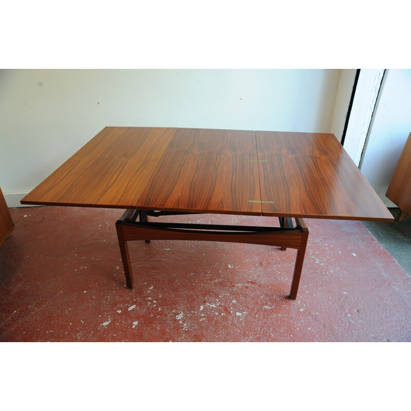
<path fill-rule="evenodd" d="M 332 134 L 256 132 L 263 215 L 393 221 Z"/>

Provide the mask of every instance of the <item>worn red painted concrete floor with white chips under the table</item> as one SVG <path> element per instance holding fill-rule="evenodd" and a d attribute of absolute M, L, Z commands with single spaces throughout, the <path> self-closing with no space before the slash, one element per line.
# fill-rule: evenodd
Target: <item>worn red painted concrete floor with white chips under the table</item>
<path fill-rule="evenodd" d="M 358 221 L 306 219 L 308 248 L 291 301 L 295 250 L 136 241 L 129 290 L 115 229 L 121 210 L 11 214 L 15 230 L 0 249 L 3 342 L 411 341 L 411 277 Z M 268 217 L 170 218 L 278 225 Z"/>

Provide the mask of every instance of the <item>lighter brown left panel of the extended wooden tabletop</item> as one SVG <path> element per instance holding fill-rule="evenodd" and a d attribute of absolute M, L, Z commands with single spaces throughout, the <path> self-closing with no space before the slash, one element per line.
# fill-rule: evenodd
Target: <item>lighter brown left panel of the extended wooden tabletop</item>
<path fill-rule="evenodd" d="M 134 208 L 176 130 L 105 127 L 21 202 Z"/>

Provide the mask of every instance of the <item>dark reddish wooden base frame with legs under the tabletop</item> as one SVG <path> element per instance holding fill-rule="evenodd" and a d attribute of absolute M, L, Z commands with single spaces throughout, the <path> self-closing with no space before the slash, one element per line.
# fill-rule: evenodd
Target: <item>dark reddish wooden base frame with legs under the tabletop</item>
<path fill-rule="evenodd" d="M 297 250 L 291 290 L 288 298 L 296 300 L 298 285 L 304 264 L 309 230 L 303 218 L 295 217 L 295 227 L 290 217 L 279 217 L 280 227 L 226 226 L 193 223 L 152 222 L 148 217 L 179 215 L 177 213 L 152 210 L 127 210 L 116 222 L 117 236 L 127 287 L 134 287 L 132 266 L 128 252 L 128 241 L 145 240 L 192 240 L 223 241 L 260 244 L 280 247 L 282 250 Z"/>

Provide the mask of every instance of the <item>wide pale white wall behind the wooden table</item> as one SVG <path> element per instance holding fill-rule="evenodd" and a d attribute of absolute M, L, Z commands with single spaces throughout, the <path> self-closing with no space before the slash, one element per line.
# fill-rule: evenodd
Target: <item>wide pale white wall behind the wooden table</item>
<path fill-rule="evenodd" d="M 0 186 L 18 206 L 107 125 L 328 133 L 340 73 L 0 70 Z"/>

